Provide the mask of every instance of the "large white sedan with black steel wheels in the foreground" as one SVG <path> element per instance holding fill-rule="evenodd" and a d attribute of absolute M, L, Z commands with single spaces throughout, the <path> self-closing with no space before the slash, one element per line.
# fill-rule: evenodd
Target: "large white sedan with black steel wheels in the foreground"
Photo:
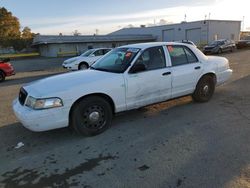
<path fill-rule="evenodd" d="M 71 126 L 91 136 L 112 116 L 192 95 L 207 102 L 232 75 L 226 58 L 205 56 L 184 43 L 144 43 L 116 48 L 86 71 L 48 77 L 21 88 L 13 109 L 32 131 Z"/>

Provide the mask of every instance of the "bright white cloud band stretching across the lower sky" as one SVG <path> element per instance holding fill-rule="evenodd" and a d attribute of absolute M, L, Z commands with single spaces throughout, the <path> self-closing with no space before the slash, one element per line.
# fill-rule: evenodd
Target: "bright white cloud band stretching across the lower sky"
<path fill-rule="evenodd" d="M 246 2 L 238 0 L 236 4 L 234 0 L 221 0 L 210 6 L 180 6 L 123 15 L 58 17 L 38 20 L 30 18 L 23 20 L 22 24 L 30 26 L 34 32 L 41 34 L 71 34 L 74 30 L 78 30 L 82 34 L 93 34 L 95 29 L 98 29 L 100 34 L 106 34 L 129 24 L 139 26 L 153 23 L 154 20 L 159 22 L 160 19 L 178 23 L 184 20 L 185 14 L 187 21 L 202 20 L 205 15 L 208 18 L 210 13 L 211 19 L 242 20 L 245 16 L 244 26 L 247 28 L 250 26 L 250 17 L 248 17 L 249 3 Z"/>

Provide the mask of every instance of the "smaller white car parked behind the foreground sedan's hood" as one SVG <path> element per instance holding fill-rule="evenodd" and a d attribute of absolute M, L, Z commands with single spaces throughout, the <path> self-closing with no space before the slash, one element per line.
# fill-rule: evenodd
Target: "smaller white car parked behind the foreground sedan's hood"
<path fill-rule="evenodd" d="M 95 61 L 108 53 L 111 48 L 95 48 L 84 52 L 82 55 L 67 59 L 62 66 L 70 70 L 88 69 Z"/>

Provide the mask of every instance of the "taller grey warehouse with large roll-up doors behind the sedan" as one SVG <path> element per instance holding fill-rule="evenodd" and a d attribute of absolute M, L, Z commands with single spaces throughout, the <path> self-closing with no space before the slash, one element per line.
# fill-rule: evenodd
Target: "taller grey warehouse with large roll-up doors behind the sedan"
<path fill-rule="evenodd" d="M 191 40 L 203 46 L 217 39 L 239 40 L 241 21 L 201 20 L 153 27 L 124 28 L 110 35 L 151 34 L 157 41 Z"/>

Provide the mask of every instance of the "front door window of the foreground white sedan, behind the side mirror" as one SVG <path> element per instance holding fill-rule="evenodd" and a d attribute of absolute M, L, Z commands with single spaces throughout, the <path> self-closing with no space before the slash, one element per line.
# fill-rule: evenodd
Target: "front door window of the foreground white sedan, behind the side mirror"
<path fill-rule="evenodd" d="M 146 49 L 135 64 L 143 63 L 146 70 L 155 70 L 166 67 L 165 54 L 162 46 Z"/>

